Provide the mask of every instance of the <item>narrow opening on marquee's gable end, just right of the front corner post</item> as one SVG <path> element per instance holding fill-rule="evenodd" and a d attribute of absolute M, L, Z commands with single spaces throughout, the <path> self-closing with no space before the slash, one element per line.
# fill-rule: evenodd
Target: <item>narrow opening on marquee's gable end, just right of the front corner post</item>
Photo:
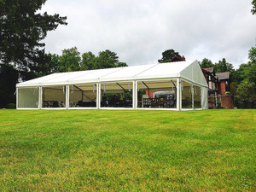
<path fill-rule="evenodd" d="M 182 108 L 192 108 L 192 84 L 181 81 L 182 90 Z"/>

